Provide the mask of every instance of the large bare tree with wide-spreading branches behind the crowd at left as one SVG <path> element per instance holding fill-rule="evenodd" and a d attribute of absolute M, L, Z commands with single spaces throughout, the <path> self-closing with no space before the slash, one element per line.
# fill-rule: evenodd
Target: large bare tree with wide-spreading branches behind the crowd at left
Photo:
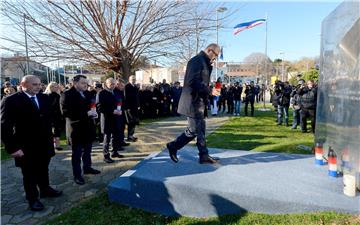
<path fill-rule="evenodd" d="M 125 78 L 140 56 L 164 56 L 174 40 L 202 29 L 188 1 L 6 0 L 2 15 L 19 31 L 25 18 L 30 57 L 91 63 Z M 24 46 L 11 33 L 3 40 Z M 6 49 L 5 46 L 1 46 Z M 9 49 L 7 49 L 9 50 Z"/>

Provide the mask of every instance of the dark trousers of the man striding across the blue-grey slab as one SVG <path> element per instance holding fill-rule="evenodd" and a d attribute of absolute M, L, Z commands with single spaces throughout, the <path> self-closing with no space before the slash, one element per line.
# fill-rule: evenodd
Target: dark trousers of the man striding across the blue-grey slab
<path fill-rule="evenodd" d="M 204 119 L 187 118 L 188 127 L 179 137 L 170 142 L 170 148 L 179 150 L 196 137 L 196 146 L 199 150 L 199 156 L 207 155 L 208 149 L 205 142 L 206 123 Z"/>

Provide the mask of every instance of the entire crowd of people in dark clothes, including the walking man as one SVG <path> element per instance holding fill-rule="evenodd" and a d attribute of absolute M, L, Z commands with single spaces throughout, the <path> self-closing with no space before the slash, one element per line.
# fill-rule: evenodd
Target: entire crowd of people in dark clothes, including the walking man
<path fill-rule="evenodd" d="M 201 61 L 202 67 L 189 62 L 184 87 L 178 81 L 169 84 L 165 79 L 140 87 L 135 76 L 130 76 L 126 82 L 108 78 L 104 83 L 89 84 L 86 76 L 77 75 L 65 86 L 56 82 L 45 85 L 33 75 L 24 76 L 18 86 L 5 82 L 1 87 L 1 140 L 5 150 L 14 157 L 15 165 L 21 168 L 30 209 L 44 209 L 39 197 L 62 195 L 49 185 L 48 166 L 55 150 L 63 150 L 60 137 L 64 132 L 72 149 L 72 170 L 78 185 L 85 184 L 84 174 L 100 173 L 92 167 L 94 141 L 103 146 L 104 162 L 113 163 L 124 157 L 121 151 L 126 146 L 137 141 L 135 128 L 146 118 L 188 116 L 187 130 L 178 137 L 179 140 L 167 145 L 172 160 L 178 161 L 179 146 L 197 136 L 200 163 L 216 163 L 217 159 L 207 154 L 204 138 L 207 112 L 212 116 L 256 116 L 254 103 L 264 102 L 267 90 L 265 85 L 254 82 L 222 83 L 218 79 L 211 83 L 207 77 L 218 53 L 218 46 L 213 44 L 195 56 L 192 61 Z M 196 83 L 203 86 L 191 86 L 195 85 L 191 83 L 195 70 L 204 76 Z M 269 89 L 277 125 L 290 126 L 291 107 L 291 128 L 300 126 L 301 132 L 305 133 L 310 119 L 311 132 L 315 132 L 317 85 L 313 80 L 300 79 L 294 86 L 286 81 L 276 81 Z M 196 110 L 191 111 L 191 104 L 196 102 L 191 100 L 195 94 L 191 90 L 197 90 L 201 95 L 201 101 L 195 99 L 200 101 L 200 109 L 197 105 Z M 186 97 L 188 100 L 185 101 Z M 189 115 L 186 114 L 188 110 Z M 197 114 L 192 115 L 194 113 Z"/>

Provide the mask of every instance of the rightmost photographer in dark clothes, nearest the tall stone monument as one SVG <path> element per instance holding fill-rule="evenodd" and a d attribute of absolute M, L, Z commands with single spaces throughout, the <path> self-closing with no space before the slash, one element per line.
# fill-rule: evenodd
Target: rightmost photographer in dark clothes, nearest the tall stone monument
<path fill-rule="evenodd" d="M 317 87 L 315 86 L 314 81 L 309 80 L 307 86 L 301 86 L 297 93 L 300 96 L 301 132 L 307 132 L 306 119 L 310 118 L 311 131 L 312 133 L 315 133 Z"/>

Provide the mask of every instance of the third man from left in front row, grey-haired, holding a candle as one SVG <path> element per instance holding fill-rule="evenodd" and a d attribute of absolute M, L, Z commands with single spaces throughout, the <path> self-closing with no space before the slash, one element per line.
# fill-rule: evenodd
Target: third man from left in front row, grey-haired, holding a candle
<path fill-rule="evenodd" d="M 122 114 L 124 96 L 115 86 L 116 81 L 113 78 L 108 78 L 105 81 L 104 90 L 100 91 L 96 98 L 96 104 L 101 113 L 100 124 L 101 131 L 104 134 L 103 153 L 106 163 L 114 162 L 114 160 L 110 158 L 110 140 L 112 140 L 113 148 L 111 157 L 124 157 L 118 153 L 124 150 L 122 148 L 122 143 L 124 142 L 124 121 Z"/>

